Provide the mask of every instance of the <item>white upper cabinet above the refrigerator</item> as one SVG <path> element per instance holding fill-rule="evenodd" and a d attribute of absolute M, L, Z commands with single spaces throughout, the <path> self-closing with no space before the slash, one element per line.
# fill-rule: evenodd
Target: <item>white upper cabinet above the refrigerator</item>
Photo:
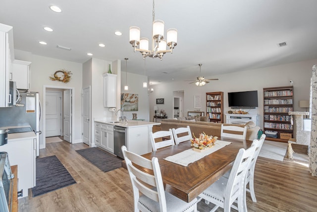
<path fill-rule="evenodd" d="M 12 81 L 16 82 L 16 88 L 19 90 L 28 90 L 29 67 L 31 62 L 14 60 L 12 64 Z"/>

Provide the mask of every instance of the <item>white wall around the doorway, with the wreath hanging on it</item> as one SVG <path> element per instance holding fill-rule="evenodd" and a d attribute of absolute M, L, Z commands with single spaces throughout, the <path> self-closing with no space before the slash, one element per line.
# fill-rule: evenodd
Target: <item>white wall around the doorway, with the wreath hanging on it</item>
<path fill-rule="evenodd" d="M 81 90 L 82 90 L 82 64 L 69 61 L 57 60 L 53 58 L 32 55 L 31 57 L 31 74 L 30 74 L 30 89 L 29 91 L 38 91 L 40 101 L 43 104 L 43 87 L 46 86 L 61 86 L 74 87 L 74 127 L 73 139 L 75 142 L 82 140 L 81 136 Z M 52 81 L 49 79 L 55 71 L 65 69 L 71 71 L 71 79 L 68 83 L 60 81 Z M 79 130 L 77 130 L 79 129 Z M 43 131 L 43 115 L 40 121 L 40 131 Z M 43 134 L 40 135 L 40 148 L 43 148 L 44 140 Z"/>

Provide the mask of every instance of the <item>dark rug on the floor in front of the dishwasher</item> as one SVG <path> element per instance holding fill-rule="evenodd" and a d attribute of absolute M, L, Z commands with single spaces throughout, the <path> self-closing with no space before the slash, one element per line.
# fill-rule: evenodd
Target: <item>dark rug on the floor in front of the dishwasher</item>
<path fill-rule="evenodd" d="M 91 147 L 76 151 L 103 172 L 111 171 L 121 167 L 122 159 L 102 150 L 101 148 Z"/>

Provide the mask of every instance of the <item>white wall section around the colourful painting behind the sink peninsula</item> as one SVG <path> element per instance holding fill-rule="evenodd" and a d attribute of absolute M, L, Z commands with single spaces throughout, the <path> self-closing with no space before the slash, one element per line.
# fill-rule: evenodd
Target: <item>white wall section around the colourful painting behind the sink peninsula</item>
<path fill-rule="evenodd" d="M 145 121 L 149 121 L 149 86 L 147 88 L 143 87 L 143 82 L 148 81 L 148 77 L 145 75 L 135 74 L 135 73 L 127 73 L 127 83 L 129 89 L 124 90 L 124 85 L 126 82 L 125 71 L 121 72 L 121 92 L 122 93 L 134 93 L 138 94 L 139 97 L 139 105 L 138 111 L 127 111 L 124 112 L 124 116 L 127 119 L 132 119 L 132 113 L 136 113 L 138 119 L 145 119 Z M 153 108 L 153 107 L 152 107 Z M 153 120 L 150 120 L 151 122 Z"/>

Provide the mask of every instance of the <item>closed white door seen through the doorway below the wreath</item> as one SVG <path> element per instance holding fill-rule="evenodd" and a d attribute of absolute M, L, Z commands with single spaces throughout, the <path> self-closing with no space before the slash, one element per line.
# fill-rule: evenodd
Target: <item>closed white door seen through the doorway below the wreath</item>
<path fill-rule="evenodd" d="M 60 136 L 61 132 L 61 92 L 46 92 L 46 137 Z"/>

